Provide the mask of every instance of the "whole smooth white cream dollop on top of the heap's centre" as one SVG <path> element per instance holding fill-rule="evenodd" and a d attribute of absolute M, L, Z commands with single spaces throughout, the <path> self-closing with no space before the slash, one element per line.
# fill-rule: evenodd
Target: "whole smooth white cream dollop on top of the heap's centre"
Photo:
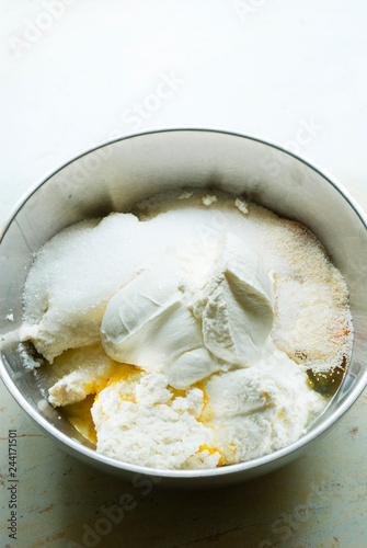
<path fill-rule="evenodd" d="M 273 326 L 266 267 L 238 237 L 219 242 L 198 295 L 185 274 L 175 258 L 160 255 L 111 298 L 101 327 L 108 356 L 164 372 L 173 388 L 251 365 Z"/>

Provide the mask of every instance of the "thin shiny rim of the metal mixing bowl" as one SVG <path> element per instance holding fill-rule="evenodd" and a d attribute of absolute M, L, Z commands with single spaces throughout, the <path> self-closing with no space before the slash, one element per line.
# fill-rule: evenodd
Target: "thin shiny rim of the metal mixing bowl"
<path fill-rule="evenodd" d="M 331 174 L 329 173 L 328 170 L 319 168 L 316 163 L 313 163 L 310 159 L 305 157 L 303 155 L 296 153 L 291 150 L 288 150 L 286 147 L 271 140 L 271 139 L 265 139 L 264 137 L 254 135 L 254 134 L 245 134 L 245 133 L 239 133 L 239 132 L 231 132 L 228 129 L 222 129 L 222 128 L 216 128 L 216 127 L 169 127 L 169 128 L 157 128 L 157 129 L 149 129 L 146 132 L 139 132 L 139 133 L 131 133 L 131 134 L 124 134 L 119 137 L 115 137 L 113 139 L 107 139 L 103 140 L 98 145 L 91 146 L 87 149 L 83 149 L 82 151 L 78 152 L 74 155 L 70 160 L 62 162 L 59 164 L 58 168 L 49 170 L 45 175 L 41 176 L 31 187 L 23 194 L 23 196 L 16 202 L 16 204 L 12 207 L 10 210 L 8 217 L 5 218 L 5 221 L 2 225 L 2 228 L 0 229 L 0 246 L 2 243 L 2 240 L 10 228 L 11 224 L 15 219 L 16 215 L 20 213 L 20 210 L 24 207 L 26 202 L 32 197 L 32 195 L 41 189 L 44 184 L 47 183 L 49 179 L 51 179 L 54 175 L 56 175 L 59 171 L 64 170 L 66 167 L 72 164 L 74 161 L 83 158 L 84 156 L 88 156 L 90 152 L 93 152 L 95 150 L 99 150 L 101 148 L 131 139 L 131 138 L 137 138 L 137 137 L 144 137 L 148 135 L 154 135 L 154 134 L 164 134 L 164 133 L 206 133 L 206 134 L 221 134 L 221 135 L 228 135 L 230 137 L 238 137 L 238 138 L 244 138 L 248 140 L 261 142 L 262 145 L 268 146 L 271 148 L 277 149 L 296 160 L 300 161 L 301 163 L 306 164 L 308 168 L 310 168 L 312 171 L 317 172 L 319 175 L 321 175 L 325 182 L 331 184 L 341 195 L 342 197 L 347 202 L 347 204 L 352 207 L 352 209 L 355 212 L 355 214 L 358 216 L 359 220 L 362 221 L 363 226 L 367 230 L 367 215 L 365 214 L 364 209 L 359 206 L 359 204 L 356 202 L 355 198 L 352 197 L 349 192 Z M 15 383 L 12 380 L 10 377 L 7 366 L 4 363 L 4 359 L 2 359 L 2 356 L 0 356 L 0 377 L 5 385 L 7 389 L 9 392 L 13 396 L 15 401 L 23 408 L 23 410 L 43 429 L 46 434 L 51 435 L 53 437 L 56 438 L 57 442 L 59 442 L 61 445 L 66 446 L 66 449 L 72 449 L 72 452 L 77 454 L 81 454 L 83 458 L 92 463 L 100 463 L 101 465 L 107 465 L 108 468 L 114 469 L 115 471 L 117 469 L 133 472 L 133 473 L 140 473 L 140 475 L 148 475 L 151 477 L 160 477 L 160 478 L 209 478 L 209 477 L 218 477 L 218 476 L 232 476 L 236 475 L 236 472 L 244 472 L 251 469 L 259 469 L 262 468 L 263 466 L 269 464 L 269 463 L 276 463 L 279 459 L 283 459 L 287 455 L 290 455 L 293 453 L 298 452 L 301 449 L 303 446 L 310 444 L 313 442 L 317 437 L 321 436 L 322 434 L 326 433 L 333 426 L 336 424 L 336 422 L 348 411 L 348 409 L 353 406 L 353 403 L 358 399 L 363 390 L 367 386 L 367 369 L 364 372 L 362 378 L 358 380 L 357 385 L 353 388 L 352 392 L 346 396 L 344 401 L 341 403 L 341 406 L 335 410 L 335 412 L 326 418 L 324 421 L 321 421 L 320 424 L 317 424 L 314 427 L 312 427 L 310 431 L 306 432 L 301 437 L 299 437 L 296 442 L 277 449 L 273 453 L 269 453 L 267 455 L 263 455 L 261 457 L 257 457 L 252 460 L 243 461 L 243 463 L 238 463 L 233 464 L 230 466 L 223 466 L 219 468 L 209 468 L 209 469 L 196 469 L 196 470 L 181 470 L 181 469 L 161 469 L 161 468 L 151 468 L 151 467 L 146 467 L 146 466 L 140 466 L 140 465 L 133 465 L 129 463 L 125 463 L 122 460 L 117 460 L 111 457 L 107 457 L 105 455 L 102 455 L 100 453 L 96 453 L 95 449 L 85 447 L 82 445 L 80 442 L 77 439 L 72 439 L 62 432 L 60 432 L 57 427 L 55 427 L 53 424 L 50 424 L 44 416 L 42 416 L 26 400 L 26 398 L 21 393 L 21 391 L 18 389 Z M 112 471 L 112 470 L 111 470 Z"/>

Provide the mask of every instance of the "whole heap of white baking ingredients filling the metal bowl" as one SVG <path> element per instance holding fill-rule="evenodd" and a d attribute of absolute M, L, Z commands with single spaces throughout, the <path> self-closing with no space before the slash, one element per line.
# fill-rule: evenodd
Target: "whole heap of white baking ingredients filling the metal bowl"
<path fill-rule="evenodd" d="M 309 230 L 190 191 L 46 243 L 22 340 L 48 361 L 53 406 L 93 398 L 96 450 L 211 468 L 302 435 L 325 406 L 308 374 L 345 367 L 353 324 L 346 284 Z"/>

